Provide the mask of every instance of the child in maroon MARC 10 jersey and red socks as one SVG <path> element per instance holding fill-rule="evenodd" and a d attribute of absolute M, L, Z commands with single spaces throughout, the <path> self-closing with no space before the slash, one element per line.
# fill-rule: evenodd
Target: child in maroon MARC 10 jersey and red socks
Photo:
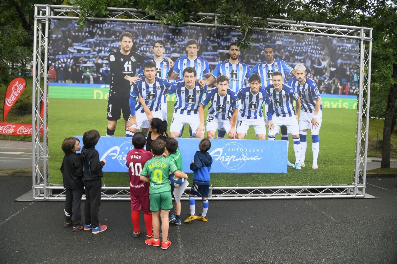
<path fill-rule="evenodd" d="M 146 151 L 143 147 L 146 144 L 145 135 L 137 132 L 132 137 L 134 149 L 127 154 L 127 167 L 129 175 L 129 193 L 131 195 L 131 220 L 134 227 L 133 237 L 138 238 L 141 234 L 139 228 L 139 213 L 142 209 L 145 225 L 146 239 L 153 236 L 152 212 L 150 211 L 149 184 L 141 181 L 140 175 L 146 161 L 153 157 L 152 152 Z"/>

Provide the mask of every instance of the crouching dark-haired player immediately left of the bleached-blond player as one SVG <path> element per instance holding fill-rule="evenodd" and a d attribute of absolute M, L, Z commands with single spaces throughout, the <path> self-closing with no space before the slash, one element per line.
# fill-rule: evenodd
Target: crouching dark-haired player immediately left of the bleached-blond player
<path fill-rule="evenodd" d="M 295 169 L 301 169 L 299 158 L 301 157 L 301 142 L 299 141 L 298 118 L 295 114 L 293 101 L 297 101 L 299 96 L 295 89 L 283 84 L 281 72 L 273 72 L 273 84 L 266 87 L 272 102 L 269 105 L 268 129 L 269 140 L 274 140 L 281 125 L 287 127 L 287 132 L 291 133 L 294 140 Z"/>

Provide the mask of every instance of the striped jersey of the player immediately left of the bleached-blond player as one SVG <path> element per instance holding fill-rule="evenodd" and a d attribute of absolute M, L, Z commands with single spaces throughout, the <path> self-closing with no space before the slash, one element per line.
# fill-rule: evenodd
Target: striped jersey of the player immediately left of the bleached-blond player
<path fill-rule="evenodd" d="M 295 109 L 293 102 L 298 100 L 298 93 L 294 88 L 283 84 L 281 91 L 276 91 L 273 84 L 266 87 L 266 91 L 270 95 L 272 102 L 269 105 L 269 115 L 268 120 L 272 120 L 272 115 L 276 116 L 294 116 Z"/>

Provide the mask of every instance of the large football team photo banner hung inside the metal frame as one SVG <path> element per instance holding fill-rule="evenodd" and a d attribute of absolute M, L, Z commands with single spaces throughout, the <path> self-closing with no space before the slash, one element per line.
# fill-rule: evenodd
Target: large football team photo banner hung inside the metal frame
<path fill-rule="evenodd" d="M 124 35 L 125 32 L 128 32 L 128 37 Z M 212 96 L 211 91 L 220 89 L 216 86 L 216 78 L 220 75 L 227 76 L 231 91 L 237 94 L 245 89 L 245 94 L 239 94 L 238 100 L 211 97 L 210 100 L 213 101 L 208 102 L 205 107 L 204 137 L 207 137 L 207 132 L 210 130 L 207 123 L 212 120 L 210 114 L 207 116 L 207 111 L 227 116 L 233 108 L 236 109 L 237 101 L 240 101 L 242 105 L 237 110 L 239 116 L 237 133 L 244 126 L 249 127 L 249 130 L 246 133 L 240 132 L 243 140 L 211 140 L 213 146 L 210 152 L 216 161 L 212 172 L 286 173 L 287 162 L 290 167 L 303 168 L 306 154 L 306 164 L 309 165 L 306 165 L 305 169 L 306 171 L 310 169 L 308 179 L 310 178 L 310 183 L 312 183 L 312 179 L 316 181 L 313 175 L 318 174 L 319 171 L 311 170 L 312 168 L 332 167 L 331 172 L 334 175 L 341 175 L 354 160 L 359 54 L 359 43 L 356 40 L 255 32 L 253 38 L 256 41 L 252 43 L 251 48 L 241 51 L 235 45 L 240 32 L 234 29 L 96 21 L 89 21 L 85 28 L 80 28 L 76 21 L 67 20 L 52 20 L 50 35 L 48 96 L 55 103 L 52 106 L 53 120 L 61 126 L 62 120 L 66 119 L 66 115 L 71 112 L 70 115 L 79 117 L 77 121 L 80 124 L 80 126 L 65 126 L 59 130 L 61 133 L 54 132 L 54 135 L 50 136 L 50 141 L 51 138 L 59 137 L 58 140 L 61 142 L 67 136 L 82 135 L 85 131 L 97 129 L 102 136 L 96 146 L 100 156 L 106 156 L 111 158 L 112 162 L 119 163 L 113 165 L 108 163 L 104 171 L 127 171 L 125 165 L 122 164 L 123 161 L 116 158 L 121 154 L 116 154 L 116 152 L 124 152 L 125 155 L 132 147 L 131 139 L 121 137 L 129 133 L 129 131 L 124 133 L 124 120 L 127 118 L 123 115 L 127 111 L 123 111 L 121 116 L 115 115 L 113 113 L 115 107 L 121 108 L 121 103 L 128 105 L 131 103 L 128 101 L 130 95 L 134 97 L 141 93 L 146 104 L 159 101 L 163 98 L 163 91 L 166 91 L 168 95 L 166 95 L 165 107 L 168 108 L 168 113 L 162 113 L 161 118 L 168 122 L 168 135 L 178 137 L 172 133 L 175 131 L 170 131 L 170 127 L 178 122 L 188 123 L 193 120 L 193 115 L 181 119 L 182 121 L 175 118 L 175 114 L 183 115 L 180 108 L 181 102 L 200 105 L 207 95 Z M 121 41 L 125 39 L 126 43 Z M 156 85 L 145 81 L 150 77 L 150 72 L 144 72 L 145 61 L 152 61 L 156 64 Z M 195 69 L 197 79 L 206 83 L 207 90 L 197 88 L 194 94 L 184 95 L 178 94 L 176 88 L 174 92 L 173 88 L 166 86 L 172 85 L 169 84 L 170 82 L 184 78 L 182 72 L 187 66 Z M 297 71 L 304 74 L 302 79 L 296 75 Z M 274 74 L 275 72 L 277 74 Z M 274 75 L 277 75 L 281 76 L 281 87 L 290 87 L 291 91 L 286 91 L 282 95 L 276 92 L 268 93 L 270 101 L 266 101 L 266 93 L 257 95 L 254 92 L 256 88 L 249 81 L 250 76 L 254 76 L 253 74 L 260 77 L 257 81 L 263 89 L 269 89 L 269 91 L 275 89 L 272 82 Z M 137 77 L 142 78 L 143 81 L 139 81 Z M 302 84 L 300 80 L 304 83 Z M 134 82 L 137 84 L 133 84 Z M 183 82 L 187 84 L 184 79 Z M 304 86 L 306 84 L 309 86 Z M 186 85 L 182 86 L 184 86 L 183 89 L 188 89 Z M 219 98 L 224 96 L 219 93 L 218 95 Z M 125 97 L 127 101 L 118 101 L 116 97 Z M 220 100 L 224 102 L 221 103 Z M 295 101 L 300 101 L 300 105 L 295 104 Z M 215 102 L 216 109 L 211 110 L 210 107 L 215 105 Z M 281 130 L 278 130 L 279 126 L 277 126 L 275 131 L 272 131 L 276 134 L 274 137 L 268 133 L 268 127 L 265 128 L 265 124 L 267 125 L 265 103 L 272 104 L 272 109 L 274 109 L 272 116 L 276 119 L 281 116 L 284 122 L 286 120 L 283 119 L 284 117 L 289 118 L 285 123 L 287 128 L 289 126 L 287 131 L 283 132 L 283 126 L 280 125 Z M 138 113 L 141 111 L 139 102 L 136 101 L 135 104 L 138 105 L 136 108 Z M 68 107 L 65 108 L 65 105 Z M 260 107 L 257 107 L 258 105 Z M 316 105 L 320 107 L 317 109 Z M 224 106 L 230 110 L 225 111 Z M 300 117 L 295 118 L 297 107 L 301 114 Z M 158 111 L 156 109 L 159 108 L 150 108 L 152 112 Z M 161 110 L 164 110 L 163 104 Z M 191 108 L 191 110 L 193 114 L 198 115 L 198 108 Z M 316 116 L 318 114 L 317 119 L 313 116 L 314 112 Z M 144 112 L 139 112 L 139 114 L 146 118 Z M 160 114 L 157 114 L 153 116 L 160 118 Z M 114 121 L 112 119 L 115 119 L 115 116 L 119 117 L 116 130 L 109 125 L 111 123 L 109 121 Z M 305 127 L 300 127 L 303 123 L 300 120 L 298 125 L 297 120 L 302 116 L 306 118 L 308 131 L 304 130 Z M 50 122 L 52 117 L 49 116 Z M 241 119 L 241 117 L 244 118 Z M 311 127 L 313 118 L 317 120 L 316 127 Z M 223 116 L 220 119 L 227 120 Z M 69 117 L 67 120 L 69 123 L 74 122 Z M 255 123 L 256 120 L 259 125 Z M 272 121 L 273 124 L 278 122 Z M 106 124 L 108 124 L 107 127 Z M 260 128 L 252 129 L 254 124 Z M 227 127 L 228 122 L 225 121 L 222 125 Z M 222 130 L 222 125 L 216 126 L 215 133 L 218 128 Z M 82 126 L 84 130 L 80 128 Z M 183 137 L 189 137 L 189 134 L 194 137 L 192 133 L 195 132 L 195 128 L 192 127 L 192 131 L 189 132 L 189 126 L 186 127 Z M 65 135 L 61 135 L 62 133 Z M 281 133 L 289 134 L 289 137 L 280 137 Z M 109 139 L 105 135 L 116 137 Z M 222 135 L 216 133 L 214 137 L 215 139 L 222 138 Z M 223 137 L 227 139 L 228 135 Z M 285 139 L 289 141 L 282 142 Z M 191 158 L 197 151 L 198 139 L 182 140 L 179 148 L 183 153 L 183 165 L 189 167 Z M 289 146 L 289 150 L 286 146 Z M 239 151 L 241 149 L 259 151 L 245 153 Z M 286 157 L 287 153 L 289 160 Z M 299 156 L 303 159 L 299 160 Z M 226 159 L 229 162 L 225 161 Z M 244 162 L 238 162 L 243 160 Z M 321 165 L 318 165 L 320 162 Z M 326 178 L 326 173 L 323 174 Z M 304 173 L 300 177 L 304 178 Z"/>

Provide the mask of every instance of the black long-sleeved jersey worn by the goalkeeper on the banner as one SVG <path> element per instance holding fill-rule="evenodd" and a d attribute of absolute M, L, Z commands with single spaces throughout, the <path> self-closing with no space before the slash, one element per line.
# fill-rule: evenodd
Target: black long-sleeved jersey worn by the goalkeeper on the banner
<path fill-rule="evenodd" d="M 109 97 L 129 97 L 131 85 L 124 79 L 124 76 L 134 77 L 142 61 L 142 55 L 135 51 L 130 51 L 128 55 L 123 55 L 120 51 L 109 54 L 110 76 L 112 77 Z"/>

